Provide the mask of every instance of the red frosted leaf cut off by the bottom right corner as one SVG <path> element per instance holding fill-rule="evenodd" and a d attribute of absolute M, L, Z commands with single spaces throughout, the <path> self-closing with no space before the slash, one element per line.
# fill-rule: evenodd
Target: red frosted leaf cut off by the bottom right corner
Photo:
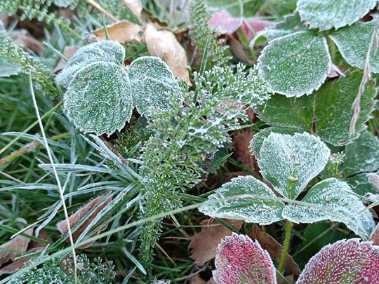
<path fill-rule="evenodd" d="M 296 284 L 373 284 L 379 279 L 379 247 L 357 238 L 326 245 L 305 266 Z"/>

